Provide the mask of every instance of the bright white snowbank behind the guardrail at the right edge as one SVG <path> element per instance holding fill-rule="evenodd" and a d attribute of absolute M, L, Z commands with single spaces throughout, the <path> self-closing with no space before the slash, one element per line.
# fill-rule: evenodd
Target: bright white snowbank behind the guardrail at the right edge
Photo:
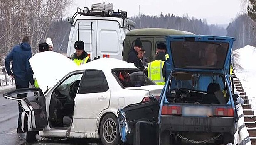
<path fill-rule="evenodd" d="M 256 115 L 256 47 L 245 46 L 234 51 L 234 69 Z"/>

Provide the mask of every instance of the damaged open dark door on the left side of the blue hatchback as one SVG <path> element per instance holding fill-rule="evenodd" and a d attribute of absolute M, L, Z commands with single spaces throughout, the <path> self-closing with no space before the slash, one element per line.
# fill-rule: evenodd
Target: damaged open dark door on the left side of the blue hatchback
<path fill-rule="evenodd" d="M 118 110 L 119 133 L 124 143 L 157 145 L 159 101 L 131 104 Z"/>

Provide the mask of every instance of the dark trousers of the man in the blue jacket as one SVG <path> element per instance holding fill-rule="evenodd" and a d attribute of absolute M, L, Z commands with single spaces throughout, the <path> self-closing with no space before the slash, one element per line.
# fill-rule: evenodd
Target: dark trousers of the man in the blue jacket
<path fill-rule="evenodd" d="M 16 85 L 16 89 L 22 89 L 22 88 L 28 88 L 29 87 L 29 82 L 19 82 L 19 81 L 16 81 L 15 82 L 15 85 Z M 27 97 L 27 93 L 25 94 L 17 94 L 17 97 L 18 98 L 24 98 L 24 97 Z M 19 118 L 18 118 L 18 130 L 21 130 L 21 114 L 23 112 L 23 109 L 21 108 L 20 105 L 19 106 Z M 25 120 L 27 120 L 27 118 L 25 118 Z M 27 126 L 25 126 L 26 128 Z"/>

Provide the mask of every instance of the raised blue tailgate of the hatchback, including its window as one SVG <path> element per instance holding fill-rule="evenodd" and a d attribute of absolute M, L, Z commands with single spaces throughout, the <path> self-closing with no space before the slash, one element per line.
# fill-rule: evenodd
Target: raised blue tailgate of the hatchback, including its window
<path fill-rule="evenodd" d="M 165 39 L 169 70 L 228 72 L 234 38 L 184 35 Z"/>

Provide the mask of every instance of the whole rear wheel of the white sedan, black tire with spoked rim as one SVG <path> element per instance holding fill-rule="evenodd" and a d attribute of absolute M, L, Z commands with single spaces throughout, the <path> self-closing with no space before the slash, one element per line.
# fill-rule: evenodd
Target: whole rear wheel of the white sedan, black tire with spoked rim
<path fill-rule="evenodd" d="M 121 143 L 118 119 L 114 114 L 106 114 L 100 124 L 100 138 L 103 145 Z"/>

